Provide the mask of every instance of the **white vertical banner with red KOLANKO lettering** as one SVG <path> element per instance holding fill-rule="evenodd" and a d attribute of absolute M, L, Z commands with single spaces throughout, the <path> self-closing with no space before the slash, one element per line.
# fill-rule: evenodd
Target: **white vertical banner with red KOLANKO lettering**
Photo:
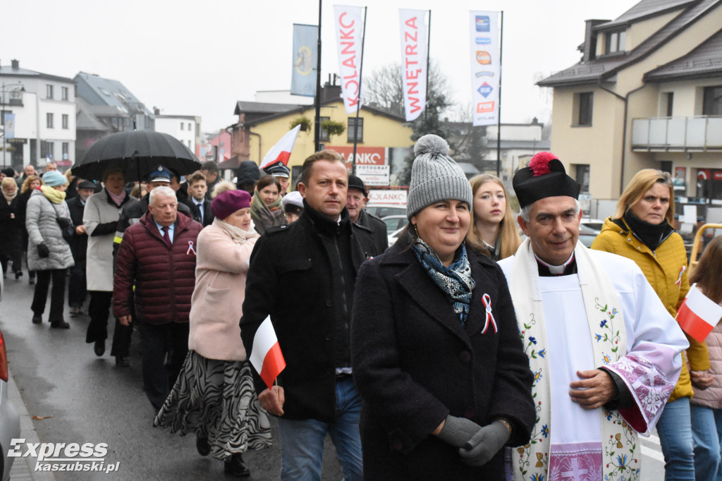
<path fill-rule="evenodd" d="M 363 8 L 334 5 L 334 28 L 339 48 L 341 91 L 346 113 L 355 113 L 360 102 Z"/>

